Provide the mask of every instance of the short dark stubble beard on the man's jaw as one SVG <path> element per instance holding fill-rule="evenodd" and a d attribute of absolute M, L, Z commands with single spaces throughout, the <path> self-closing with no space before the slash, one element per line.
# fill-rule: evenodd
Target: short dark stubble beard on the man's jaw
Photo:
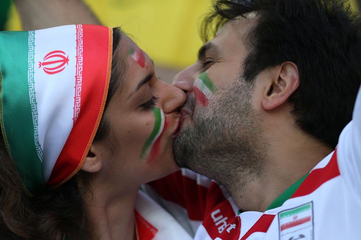
<path fill-rule="evenodd" d="M 240 80 L 238 80 L 240 81 Z M 237 82 L 218 89 L 207 107 L 197 108 L 193 124 L 179 132 L 173 145 L 175 161 L 239 191 L 262 170 L 265 145 L 250 99 L 253 85 Z M 194 110 L 194 95 L 185 105 Z"/>

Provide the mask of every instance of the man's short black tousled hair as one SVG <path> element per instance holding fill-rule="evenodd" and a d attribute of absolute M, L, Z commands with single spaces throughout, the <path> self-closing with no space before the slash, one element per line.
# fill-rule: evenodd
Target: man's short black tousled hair
<path fill-rule="evenodd" d="M 334 148 L 351 120 L 361 79 L 361 25 L 346 1 L 218 0 L 202 25 L 208 41 L 226 22 L 257 13 L 243 44 L 243 78 L 290 61 L 300 85 L 289 98 L 295 123 Z M 240 40 L 240 44 L 241 44 Z"/>

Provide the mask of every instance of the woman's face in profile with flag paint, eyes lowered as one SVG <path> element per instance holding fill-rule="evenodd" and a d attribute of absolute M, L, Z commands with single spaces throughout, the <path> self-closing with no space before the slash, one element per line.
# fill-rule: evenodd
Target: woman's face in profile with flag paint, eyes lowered
<path fill-rule="evenodd" d="M 177 169 L 172 144 L 186 95 L 158 80 L 151 59 L 128 37 L 121 38 L 116 51 L 128 68 L 103 116 L 109 134 L 93 149 L 102 173 L 117 187 L 131 187 Z"/>

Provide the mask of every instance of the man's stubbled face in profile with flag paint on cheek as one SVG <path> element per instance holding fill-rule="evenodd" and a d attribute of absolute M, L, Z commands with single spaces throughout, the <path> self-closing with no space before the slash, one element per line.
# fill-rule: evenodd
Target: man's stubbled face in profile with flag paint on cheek
<path fill-rule="evenodd" d="M 240 171 L 249 179 L 260 169 L 254 83 L 241 78 L 248 53 L 244 37 L 254 21 L 240 19 L 223 26 L 201 48 L 197 63 L 180 72 L 174 83 L 189 91 L 173 146 L 175 160 L 226 187 Z"/>

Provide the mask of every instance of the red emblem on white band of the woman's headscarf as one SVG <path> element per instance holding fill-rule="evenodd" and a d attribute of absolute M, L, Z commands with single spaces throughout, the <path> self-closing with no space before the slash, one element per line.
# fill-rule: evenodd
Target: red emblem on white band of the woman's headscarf
<path fill-rule="evenodd" d="M 43 62 L 39 62 L 39 68 L 47 74 L 57 74 L 65 69 L 69 62 L 69 56 L 63 51 L 52 51 L 45 55 Z"/>

